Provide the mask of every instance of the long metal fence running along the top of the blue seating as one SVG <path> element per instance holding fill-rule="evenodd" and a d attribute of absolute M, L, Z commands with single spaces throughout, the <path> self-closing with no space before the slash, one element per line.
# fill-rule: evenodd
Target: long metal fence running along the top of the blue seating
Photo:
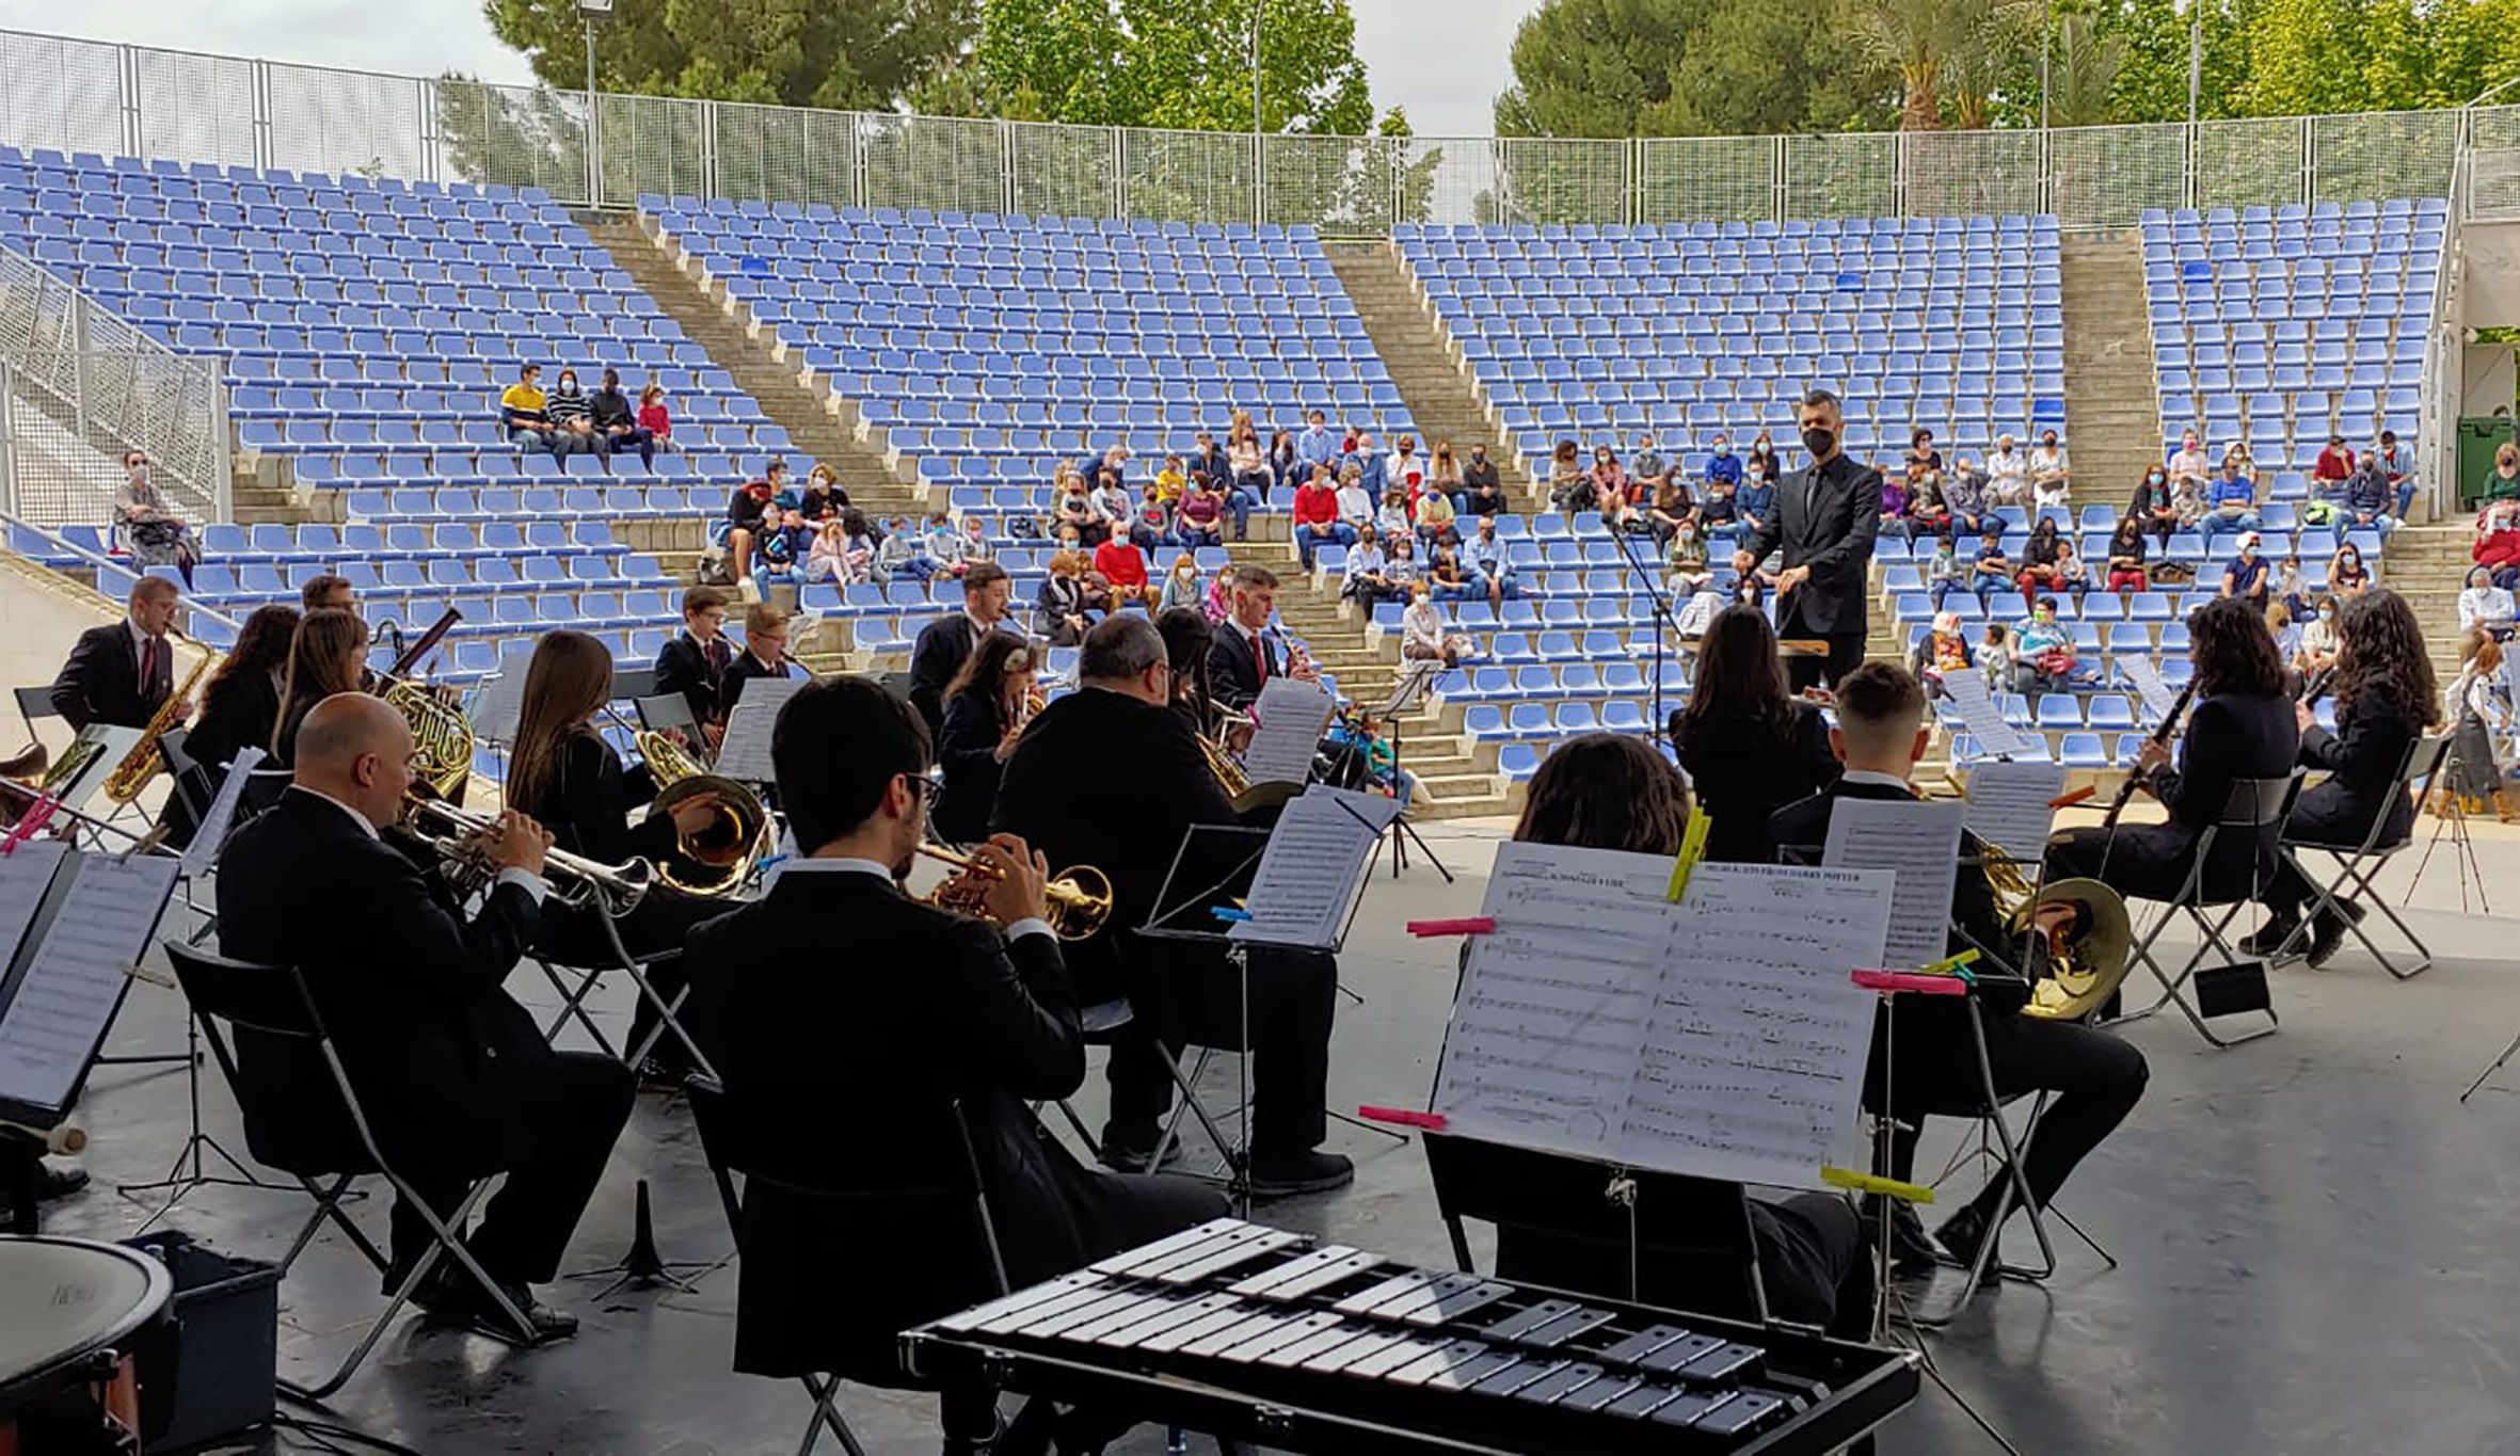
<path fill-rule="evenodd" d="M 2439 196 L 2520 106 L 2056 131 L 1358 139 L 587 96 L 0 33 L 0 144 L 219 166 L 829 207 L 1313 224 L 1666 224 Z M 590 144 L 592 141 L 592 144 Z M 2477 186 L 2485 204 L 2492 191 Z"/>

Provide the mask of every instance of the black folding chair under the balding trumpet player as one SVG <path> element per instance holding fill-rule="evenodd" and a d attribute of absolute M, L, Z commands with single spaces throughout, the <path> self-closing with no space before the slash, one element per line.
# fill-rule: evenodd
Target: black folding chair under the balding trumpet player
<path fill-rule="evenodd" d="M 411 1179 L 393 1171 L 393 1164 L 375 1146 L 375 1131 L 358 1103 L 358 1093 L 350 1088 L 350 1073 L 340 1063 L 340 1048 L 325 1030 L 323 1015 L 315 1010 L 305 975 L 295 967 L 224 960 L 171 940 L 166 942 L 166 960 L 174 965 L 176 985 L 184 987 L 184 1000 L 192 1003 L 192 1015 L 202 1025 L 202 1040 L 209 1043 L 209 1053 L 219 1063 L 219 1076 L 227 1078 L 227 1088 L 237 1096 L 237 1111 L 244 1116 L 244 1149 L 255 1161 L 295 1176 L 307 1197 L 315 1199 L 315 1212 L 307 1214 L 305 1227 L 290 1242 L 290 1252 L 282 1254 L 280 1272 L 287 1275 L 290 1265 L 297 1262 L 297 1254 L 305 1252 L 325 1222 L 338 1224 L 375 1272 L 388 1275 L 393 1270 L 393 1262 L 343 1212 L 343 1202 L 363 1176 L 383 1176 L 393 1184 L 396 1197 L 406 1199 L 421 1222 L 428 1224 L 428 1252 L 403 1272 L 393 1287 L 393 1300 L 368 1325 L 358 1348 L 320 1385 L 302 1391 L 292 1385 L 292 1391 L 307 1401 L 323 1401 L 333 1391 L 340 1391 L 368 1358 L 368 1350 L 386 1335 L 386 1325 L 403 1310 L 411 1292 L 436 1270 L 441 1254 L 454 1257 L 456 1267 L 514 1322 L 524 1343 L 534 1343 L 534 1325 L 499 1290 L 499 1282 L 474 1262 L 464 1239 L 456 1237 L 456 1229 L 464 1227 L 496 1179 L 474 1179 L 464 1199 L 446 1217 L 438 1217 L 438 1209 L 418 1197 Z M 323 1078 L 323 1083 L 310 1086 L 312 1078 Z M 330 1088 L 330 1098 L 323 1096 L 325 1088 Z"/>

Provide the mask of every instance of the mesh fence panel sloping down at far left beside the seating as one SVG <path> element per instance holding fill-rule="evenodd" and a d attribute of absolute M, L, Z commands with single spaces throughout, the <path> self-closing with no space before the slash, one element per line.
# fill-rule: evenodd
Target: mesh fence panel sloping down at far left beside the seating
<path fill-rule="evenodd" d="M 45 526 L 103 524 L 131 448 L 176 514 L 229 516 L 219 378 L 0 247 L 0 504 Z"/>

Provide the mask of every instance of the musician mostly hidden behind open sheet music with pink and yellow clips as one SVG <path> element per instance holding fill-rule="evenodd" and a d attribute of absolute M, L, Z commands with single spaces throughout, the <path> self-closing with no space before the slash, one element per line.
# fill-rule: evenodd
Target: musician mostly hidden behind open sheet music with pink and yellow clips
<path fill-rule="evenodd" d="M 1643 738 L 1585 733 L 1560 743 L 1532 776 L 1530 799 L 1515 839 L 1527 844 L 1570 844 L 1578 849 L 1620 849 L 1628 854 L 1678 854 L 1688 829 L 1688 783 Z M 1658 1237 L 1653 1209 L 1686 1207 L 1691 1199 L 1666 1174 L 1630 1174 L 1638 1181 L 1638 1227 L 1598 1197 L 1605 1174 L 1585 1181 L 1580 1159 L 1537 1154 L 1542 1176 L 1565 1171 L 1593 1197 L 1570 1199 L 1560 1227 L 1497 1227 L 1497 1277 L 1555 1290 L 1633 1297 L 1666 1307 L 1704 1307 L 1693 1287 L 1693 1267 L 1661 1267 L 1656 1244 L 1683 1239 Z M 1872 1322 L 1872 1265 L 1865 1260 L 1865 1232 L 1855 1209 L 1837 1197 L 1802 1194 L 1787 1202 L 1749 1202 L 1751 1232 L 1759 1247 L 1759 1282 L 1769 1310 L 1784 1320 L 1827 1325 L 1832 1333 L 1862 1338 Z M 1630 1247 L 1648 1254 L 1630 1267 Z M 1630 1287 L 1633 1285 L 1633 1287 Z"/>

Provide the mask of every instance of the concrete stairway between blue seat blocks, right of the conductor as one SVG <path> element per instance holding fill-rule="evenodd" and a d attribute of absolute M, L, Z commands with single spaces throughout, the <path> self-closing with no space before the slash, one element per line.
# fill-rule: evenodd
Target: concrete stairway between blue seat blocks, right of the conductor
<path fill-rule="evenodd" d="M 2142 242 L 2134 232 L 2069 237 L 2059 277 L 2074 504 L 2124 506 L 2162 446 Z"/>

